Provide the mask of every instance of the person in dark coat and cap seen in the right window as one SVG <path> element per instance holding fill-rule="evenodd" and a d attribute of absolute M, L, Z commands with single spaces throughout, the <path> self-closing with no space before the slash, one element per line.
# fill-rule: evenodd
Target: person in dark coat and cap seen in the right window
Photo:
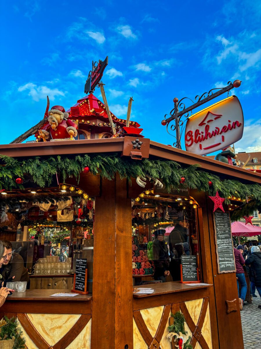
<path fill-rule="evenodd" d="M 154 280 L 166 282 L 166 277 L 169 275 L 169 255 L 168 246 L 164 241 L 165 229 L 158 229 L 154 232 L 155 240 L 153 241 L 153 261 L 155 265 Z"/>

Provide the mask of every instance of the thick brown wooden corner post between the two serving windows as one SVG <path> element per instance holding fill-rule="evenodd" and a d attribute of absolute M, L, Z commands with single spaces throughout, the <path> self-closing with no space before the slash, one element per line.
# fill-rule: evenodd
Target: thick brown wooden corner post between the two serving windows
<path fill-rule="evenodd" d="M 91 349 L 133 349 L 132 221 L 126 179 L 95 200 Z"/>

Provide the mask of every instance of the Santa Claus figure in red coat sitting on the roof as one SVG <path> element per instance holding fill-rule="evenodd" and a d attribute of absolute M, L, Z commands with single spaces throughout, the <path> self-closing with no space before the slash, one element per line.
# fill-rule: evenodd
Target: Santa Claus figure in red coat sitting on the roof
<path fill-rule="evenodd" d="M 39 136 L 46 142 L 74 140 L 77 136 L 77 125 L 68 120 L 68 113 L 61 105 L 55 105 L 48 111 L 49 125 L 39 130 Z"/>

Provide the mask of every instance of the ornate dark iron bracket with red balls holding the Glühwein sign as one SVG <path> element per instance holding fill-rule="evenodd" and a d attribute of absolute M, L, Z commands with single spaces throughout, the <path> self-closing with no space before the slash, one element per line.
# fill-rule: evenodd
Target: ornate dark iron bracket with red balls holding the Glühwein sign
<path fill-rule="evenodd" d="M 161 121 L 161 124 L 163 126 L 167 125 L 167 132 L 171 134 L 169 131 L 176 131 L 176 142 L 173 143 L 173 146 L 175 148 L 181 149 L 181 136 L 184 131 L 184 127 L 186 125 L 186 122 L 189 118 L 189 112 L 192 113 L 192 110 L 199 107 L 200 105 L 211 101 L 212 99 L 222 95 L 223 93 L 228 92 L 232 90 L 234 87 L 239 87 L 241 84 L 240 80 L 235 80 L 233 83 L 231 81 L 228 82 L 228 86 L 226 87 L 220 87 L 220 88 L 213 88 L 209 90 L 208 92 L 204 92 L 201 96 L 196 96 L 195 100 L 196 103 L 192 101 L 189 97 L 183 97 L 180 101 L 177 97 L 173 99 L 174 102 L 174 108 L 170 111 L 169 114 L 165 114 L 164 120 Z M 214 90 L 218 90 L 213 93 Z M 184 99 L 189 99 L 193 104 L 186 108 L 184 104 Z M 184 117 L 183 117 L 184 116 Z M 182 118 L 183 117 L 183 118 Z M 174 122 L 171 124 L 171 122 L 174 120 Z M 171 125 L 170 125 L 171 124 Z M 170 130 L 168 127 L 170 126 Z"/>

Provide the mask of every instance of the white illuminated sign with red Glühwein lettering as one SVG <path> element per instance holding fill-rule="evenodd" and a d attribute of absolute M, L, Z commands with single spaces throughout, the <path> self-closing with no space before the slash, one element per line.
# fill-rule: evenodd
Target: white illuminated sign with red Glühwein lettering
<path fill-rule="evenodd" d="M 186 150 L 206 155 L 237 142 L 243 136 L 244 117 L 236 96 L 199 111 L 187 121 Z"/>

